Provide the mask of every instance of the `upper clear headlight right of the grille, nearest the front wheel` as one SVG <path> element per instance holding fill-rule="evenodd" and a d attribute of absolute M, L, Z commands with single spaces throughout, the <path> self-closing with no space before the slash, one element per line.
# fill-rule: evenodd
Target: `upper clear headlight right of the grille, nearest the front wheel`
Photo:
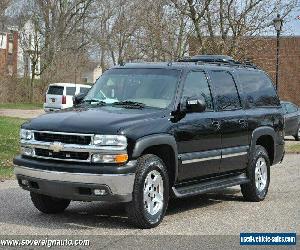
<path fill-rule="evenodd" d="M 124 135 L 95 135 L 93 142 L 97 146 L 110 146 L 121 150 L 127 147 L 127 138 Z"/>

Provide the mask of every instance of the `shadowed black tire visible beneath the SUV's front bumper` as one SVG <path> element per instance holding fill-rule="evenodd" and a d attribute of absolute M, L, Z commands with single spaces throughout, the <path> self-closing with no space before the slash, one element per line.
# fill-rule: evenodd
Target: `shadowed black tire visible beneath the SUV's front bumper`
<path fill-rule="evenodd" d="M 45 214 L 62 213 L 70 204 L 70 200 L 58 199 L 51 196 L 30 192 L 34 206 Z"/>

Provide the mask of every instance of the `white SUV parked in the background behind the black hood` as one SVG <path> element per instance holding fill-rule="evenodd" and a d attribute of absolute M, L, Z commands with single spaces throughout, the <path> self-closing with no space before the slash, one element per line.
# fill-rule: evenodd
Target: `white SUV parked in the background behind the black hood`
<path fill-rule="evenodd" d="M 50 84 L 44 103 L 45 112 L 70 108 L 73 106 L 73 96 L 87 93 L 91 86 L 75 83 L 53 83 Z"/>

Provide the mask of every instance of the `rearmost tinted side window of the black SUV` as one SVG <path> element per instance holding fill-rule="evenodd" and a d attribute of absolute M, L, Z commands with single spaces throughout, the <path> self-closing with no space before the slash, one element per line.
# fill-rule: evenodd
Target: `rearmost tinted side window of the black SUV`
<path fill-rule="evenodd" d="M 263 72 L 239 72 L 239 79 L 243 89 L 243 95 L 250 107 L 279 105 L 275 88 L 270 78 Z"/>

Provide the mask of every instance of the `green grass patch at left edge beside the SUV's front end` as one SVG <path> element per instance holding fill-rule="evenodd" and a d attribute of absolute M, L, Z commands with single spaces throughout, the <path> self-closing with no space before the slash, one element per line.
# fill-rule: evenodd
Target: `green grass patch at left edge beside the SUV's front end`
<path fill-rule="evenodd" d="M 0 180 L 13 177 L 13 158 L 19 153 L 19 129 L 26 120 L 0 116 Z"/>

